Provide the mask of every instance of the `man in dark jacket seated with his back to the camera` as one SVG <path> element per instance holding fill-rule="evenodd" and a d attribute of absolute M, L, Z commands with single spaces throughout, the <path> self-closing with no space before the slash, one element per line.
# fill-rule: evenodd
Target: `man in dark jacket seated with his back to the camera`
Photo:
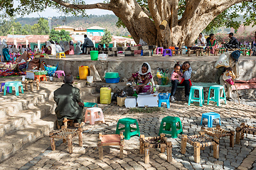
<path fill-rule="evenodd" d="M 68 118 L 74 120 L 74 126 L 82 123 L 82 109 L 84 107 L 83 101 L 80 99 L 80 90 L 73 84 L 73 76 L 66 75 L 64 77 L 64 84 L 54 91 L 54 101 L 57 107 L 55 114 L 58 119 L 58 125 L 63 125 L 63 119 Z"/>

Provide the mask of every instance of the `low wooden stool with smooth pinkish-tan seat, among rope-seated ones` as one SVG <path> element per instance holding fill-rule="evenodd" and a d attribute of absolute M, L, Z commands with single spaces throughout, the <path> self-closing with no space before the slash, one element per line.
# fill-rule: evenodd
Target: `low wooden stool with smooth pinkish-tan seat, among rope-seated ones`
<path fill-rule="evenodd" d="M 120 132 L 119 135 L 102 135 L 99 133 L 99 140 L 97 142 L 97 147 L 99 148 L 99 158 L 103 160 L 103 146 L 120 146 L 120 158 L 124 157 L 124 136 Z"/>

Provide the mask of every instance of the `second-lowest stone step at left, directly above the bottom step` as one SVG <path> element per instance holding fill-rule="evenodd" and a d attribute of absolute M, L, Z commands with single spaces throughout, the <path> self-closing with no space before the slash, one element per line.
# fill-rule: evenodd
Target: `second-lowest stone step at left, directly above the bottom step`
<path fill-rule="evenodd" d="M 36 123 L 46 115 L 53 114 L 54 109 L 55 102 L 52 101 L 33 106 L 19 113 L 9 113 L 9 115 L 1 119 L 0 137 L 15 132 L 16 130 L 21 130 L 31 125 L 31 123 Z"/>

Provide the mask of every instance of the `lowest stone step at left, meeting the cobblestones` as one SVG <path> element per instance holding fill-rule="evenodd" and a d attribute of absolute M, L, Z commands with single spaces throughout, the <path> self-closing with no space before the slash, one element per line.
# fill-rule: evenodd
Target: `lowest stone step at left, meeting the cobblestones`
<path fill-rule="evenodd" d="M 19 149 L 31 145 L 41 137 L 48 135 L 50 130 L 53 130 L 54 118 L 54 115 L 48 115 L 36 123 L 27 125 L 26 128 L 16 130 L 16 132 L 1 137 L 0 162 L 14 155 Z"/>

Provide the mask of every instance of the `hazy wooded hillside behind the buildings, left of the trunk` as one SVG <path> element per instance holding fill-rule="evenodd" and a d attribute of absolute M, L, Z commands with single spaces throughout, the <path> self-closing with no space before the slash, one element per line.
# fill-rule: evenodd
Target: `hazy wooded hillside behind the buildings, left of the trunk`
<path fill-rule="evenodd" d="M 48 20 L 48 18 L 45 18 Z M 129 35 L 129 32 L 126 28 L 117 28 L 115 23 L 117 23 L 117 16 L 114 15 L 102 15 L 95 16 L 90 15 L 88 17 L 82 16 L 68 16 L 68 17 L 53 17 L 51 18 L 51 28 L 56 26 L 71 26 L 73 28 L 89 28 L 91 26 L 100 26 L 102 28 L 107 28 L 110 30 L 112 35 Z M 21 23 L 21 26 L 25 24 L 33 25 L 38 22 L 38 18 L 16 18 L 16 22 Z"/>

